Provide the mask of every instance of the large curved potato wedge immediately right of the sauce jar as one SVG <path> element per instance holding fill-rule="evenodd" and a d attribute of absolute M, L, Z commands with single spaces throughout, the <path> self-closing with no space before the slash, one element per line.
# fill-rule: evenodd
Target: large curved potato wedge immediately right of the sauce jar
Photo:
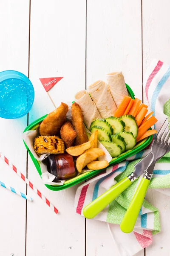
<path fill-rule="evenodd" d="M 77 171 L 82 172 L 82 169 L 88 163 L 94 161 L 97 157 L 100 157 L 104 154 L 105 152 L 100 148 L 89 148 L 77 158 L 77 161 L 76 161 Z"/>

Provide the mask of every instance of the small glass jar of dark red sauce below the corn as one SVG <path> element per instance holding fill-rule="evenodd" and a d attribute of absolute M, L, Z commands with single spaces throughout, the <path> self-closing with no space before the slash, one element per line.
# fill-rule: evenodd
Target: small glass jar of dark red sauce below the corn
<path fill-rule="evenodd" d="M 57 180 L 68 180 L 76 176 L 73 157 L 70 154 L 50 154 L 48 156 L 48 172 Z"/>

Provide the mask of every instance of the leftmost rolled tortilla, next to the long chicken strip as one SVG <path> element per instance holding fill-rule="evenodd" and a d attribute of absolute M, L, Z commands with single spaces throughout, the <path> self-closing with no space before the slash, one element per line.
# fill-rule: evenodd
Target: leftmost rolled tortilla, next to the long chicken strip
<path fill-rule="evenodd" d="M 91 122 L 101 118 L 99 111 L 96 108 L 96 104 L 92 101 L 91 96 L 86 90 L 81 90 L 75 95 L 75 101 L 82 109 L 84 116 L 84 122 L 87 128 L 90 128 Z"/>

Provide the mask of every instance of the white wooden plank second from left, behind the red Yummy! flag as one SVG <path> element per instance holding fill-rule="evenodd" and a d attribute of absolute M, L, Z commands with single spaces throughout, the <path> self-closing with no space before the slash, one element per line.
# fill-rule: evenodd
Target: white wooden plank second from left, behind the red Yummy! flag
<path fill-rule="evenodd" d="M 29 123 L 54 109 L 39 78 L 64 77 L 49 92 L 56 106 L 61 101 L 72 101 L 74 94 L 85 88 L 85 1 L 31 1 L 30 42 L 35 103 Z M 35 204 L 29 205 L 27 211 L 26 255 L 84 256 L 85 219 L 73 209 L 77 186 L 50 191 L 42 184 L 30 158 L 28 163 L 28 177 L 56 205 L 59 214 L 34 196 Z"/>

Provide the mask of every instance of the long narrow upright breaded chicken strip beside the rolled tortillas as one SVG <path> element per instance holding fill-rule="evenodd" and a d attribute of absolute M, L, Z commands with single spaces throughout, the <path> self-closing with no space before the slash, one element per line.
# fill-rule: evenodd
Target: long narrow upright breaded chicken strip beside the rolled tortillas
<path fill-rule="evenodd" d="M 75 145 L 80 145 L 82 143 L 88 142 L 88 136 L 85 131 L 85 125 L 83 123 L 82 110 L 76 102 L 72 104 L 71 107 L 71 119 L 72 125 L 77 131 L 77 137 L 75 138 Z"/>

